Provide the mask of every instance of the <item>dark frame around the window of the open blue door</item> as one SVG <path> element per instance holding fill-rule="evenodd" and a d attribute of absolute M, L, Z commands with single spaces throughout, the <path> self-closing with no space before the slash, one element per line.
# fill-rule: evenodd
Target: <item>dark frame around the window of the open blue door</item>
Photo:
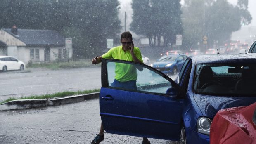
<path fill-rule="evenodd" d="M 101 73 L 101 80 L 102 80 L 102 87 L 104 88 L 109 88 L 109 89 L 117 89 L 117 90 L 124 90 L 118 87 L 109 87 L 109 81 L 108 81 L 108 76 L 107 76 L 107 61 L 110 62 L 120 62 L 120 63 L 128 63 L 128 64 L 135 64 L 135 65 L 139 65 L 142 66 L 143 68 L 148 68 L 150 71 L 153 71 L 157 74 L 159 74 L 161 77 L 165 78 L 166 80 L 168 80 L 171 83 L 172 87 L 177 88 L 178 90 L 180 89 L 180 86 L 175 83 L 174 80 L 172 80 L 171 78 L 169 78 L 168 76 L 166 76 L 164 73 L 162 73 L 161 71 L 158 71 L 156 68 L 153 68 L 151 66 L 148 66 L 146 64 L 141 64 L 141 63 L 137 63 L 134 61 L 125 61 L 125 60 L 119 60 L 119 59 L 103 59 L 102 58 L 102 73 Z M 146 94 L 157 94 L 157 95 L 161 95 L 161 96 L 165 96 L 168 97 L 167 94 L 162 94 L 162 93 L 155 93 L 155 92 L 146 92 L 146 91 L 138 91 L 138 90 L 124 90 L 124 91 L 129 91 L 129 92 L 138 92 L 138 93 L 146 93 Z"/>

